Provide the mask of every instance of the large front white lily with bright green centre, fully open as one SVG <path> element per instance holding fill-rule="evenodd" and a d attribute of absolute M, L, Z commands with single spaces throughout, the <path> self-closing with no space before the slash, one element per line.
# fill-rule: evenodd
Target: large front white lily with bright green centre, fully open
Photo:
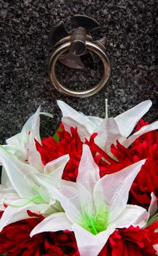
<path fill-rule="evenodd" d="M 55 181 L 37 174 L 43 184 L 63 207 L 65 214 L 52 214 L 31 232 L 72 230 L 81 256 L 97 256 L 116 228 L 143 227 L 149 214 L 141 206 L 127 205 L 130 187 L 145 160 L 125 169 L 99 177 L 90 148 L 83 146 L 76 183 Z"/>

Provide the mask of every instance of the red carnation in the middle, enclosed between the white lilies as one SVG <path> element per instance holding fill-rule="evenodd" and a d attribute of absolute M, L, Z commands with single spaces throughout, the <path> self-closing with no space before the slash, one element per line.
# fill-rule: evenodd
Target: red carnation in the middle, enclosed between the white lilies
<path fill-rule="evenodd" d="M 56 142 L 52 137 L 44 138 L 42 140 L 42 145 L 36 141 L 36 149 L 39 151 L 44 165 L 54 159 L 57 159 L 58 157 L 63 156 L 64 154 L 69 154 L 70 159 L 63 170 L 62 178 L 68 181 L 76 181 L 79 162 L 82 157 L 82 146 L 84 143 L 79 138 L 77 128 L 71 127 L 71 134 L 66 132 L 63 124 L 60 124 L 60 129 L 62 131 L 58 131 L 58 142 Z M 102 155 L 97 154 L 98 148 L 95 148 L 94 146 L 95 136 L 96 134 L 92 135 L 90 141 L 85 140 L 85 143 L 90 146 L 92 156 L 95 162 L 98 164 L 100 171 L 102 171 L 102 164 L 100 162 Z M 103 167 L 103 170 L 105 170 L 105 167 Z"/>

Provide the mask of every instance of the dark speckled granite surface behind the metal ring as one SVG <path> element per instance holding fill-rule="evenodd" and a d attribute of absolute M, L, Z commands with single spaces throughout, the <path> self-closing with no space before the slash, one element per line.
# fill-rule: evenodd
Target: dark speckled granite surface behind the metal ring
<path fill-rule="evenodd" d="M 157 6 L 157 0 L 0 0 L 0 143 L 20 132 L 39 105 L 54 113 L 53 120 L 42 118 L 42 135 L 52 134 L 60 120 L 56 99 L 103 117 L 105 95 L 110 116 L 150 98 L 153 107 L 146 119 L 154 121 L 158 109 Z M 106 88 L 86 99 L 64 97 L 51 86 L 47 74 L 52 27 L 63 20 L 71 29 L 74 14 L 100 22 L 94 36 L 106 36 L 112 65 Z M 74 75 L 58 67 L 58 75 L 73 86 L 77 81 L 88 86 L 99 78 L 100 64 L 96 68 Z"/>

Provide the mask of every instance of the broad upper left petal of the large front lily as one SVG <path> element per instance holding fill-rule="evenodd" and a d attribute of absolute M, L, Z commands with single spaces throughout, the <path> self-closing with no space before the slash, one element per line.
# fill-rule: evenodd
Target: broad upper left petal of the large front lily
<path fill-rule="evenodd" d="M 87 214 L 92 214 L 92 196 L 84 186 L 71 181 L 57 181 L 41 174 L 36 177 L 47 187 L 52 197 L 60 202 L 71 222 L 82 223 L 82 212 L 85 209 Z"/>

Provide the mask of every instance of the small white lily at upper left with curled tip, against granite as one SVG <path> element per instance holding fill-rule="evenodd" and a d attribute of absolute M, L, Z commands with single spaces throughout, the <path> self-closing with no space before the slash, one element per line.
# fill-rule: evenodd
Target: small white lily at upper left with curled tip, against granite
<path fill-rule="evenodd" d="M 28 121 L 23 126 L 23 129 L 20 133 L 6 140 L 7 146 L 4 148 L 7 151 L 12 152 L 15 156 L 21 161 L 25 162 L 26 160 L 30 165 L 36 167 L 37 170 L 43 172 L 44 165 L 39 152 L 36 150 L 35 139 L 41 143 L 41 138 L 39 135 L 39 115 L 50 116 L 50 113 L 40 113 L 40 107 L 36 110 Z"/>

